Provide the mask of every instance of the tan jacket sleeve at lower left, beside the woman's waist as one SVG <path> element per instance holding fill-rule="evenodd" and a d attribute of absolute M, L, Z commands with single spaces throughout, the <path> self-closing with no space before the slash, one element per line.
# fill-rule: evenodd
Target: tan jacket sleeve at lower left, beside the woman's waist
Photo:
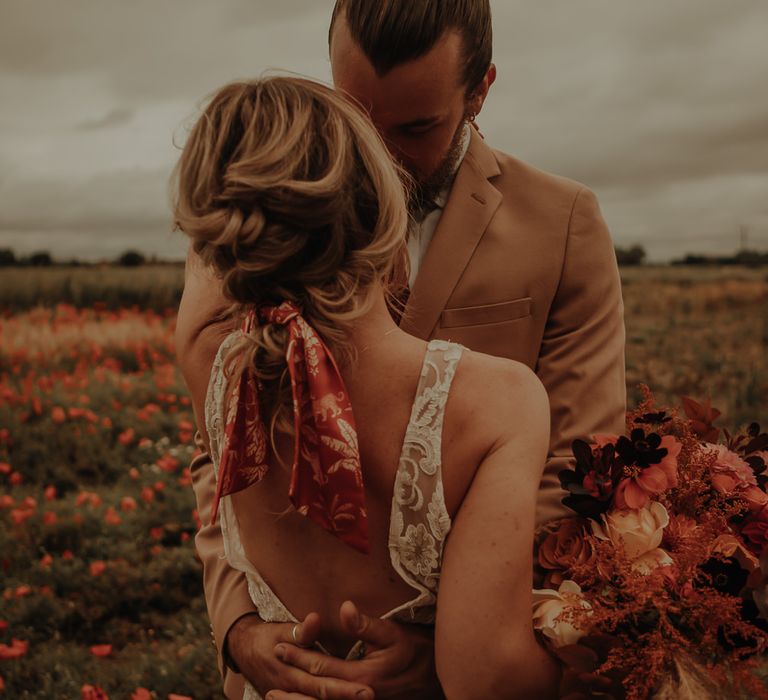
<path fill-rule="evenodd" d="M 199 433 L 195 435 L 195 443 L 201 449 L 206 449 Z M 214 525 L 209 524 L 215 479 L 213 463 L 207 452 L 202 452 L 192 460 L 190 473 L 197 500 L 197 512 L 202 522 L 195 535 L 195 547 L 203 564 L 205 602 L 211 619 L 219 672 L 226 680 L 228 673 L 234 673 L 224 658 L 227 632 L 243 615 L 257 614 L 257 610 L 248 593 L 245 575 L 231 568 L 224 558 L 224 542 L 218 519 Z"/>

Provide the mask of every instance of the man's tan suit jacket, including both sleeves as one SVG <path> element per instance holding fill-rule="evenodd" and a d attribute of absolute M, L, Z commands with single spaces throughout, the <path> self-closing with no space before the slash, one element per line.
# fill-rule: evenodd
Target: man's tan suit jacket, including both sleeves
<path fill-rule="evenodd" d="M 401 323 L 420 338 L 453 340 L 533 368 L 552 412 L 537 525 L 567 514 L 557 473 L 577 437 L 624 430 L 624 322 L 613 244 L 594 195 L 489 148 L 474 130 L 424 256 Z M 206 455 L 192 464 L 203 523 L 214 491 Z M 227 566 L 221 534 L 196 537 L 205 594 L 221 650 L 255 608 L 242 574 Z M 228 697 L 242 678 L 227 670 Z"/>

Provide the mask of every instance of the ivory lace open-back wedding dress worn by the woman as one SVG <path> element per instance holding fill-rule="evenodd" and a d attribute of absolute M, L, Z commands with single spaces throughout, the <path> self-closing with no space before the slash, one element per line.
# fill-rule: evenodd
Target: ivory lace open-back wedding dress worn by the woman
<path fill-rule="evenodd" d="M 205 400 L 205 425 L 217 478 L 224 436 L 222 411 L 226 378 L 223 358 L 239 333 L 231 334 L 221 344 L 213 363 Z M 424 356 L 395 476 L 389 527 L 392 567 L 416 591 L 416 595 L 382 615 L 385 619 L 419 623 L 435 621 L 443 544 L 451 529 L 440 470 L 443 415 L 462 351 L 462 346 L 456 343 L 432 340 Z M 265 622 L 298 622 L 246 558 L 230 496 L 222 497 L 219 513 L 227 561 L 245 574 L 248 591 L 260 617 Z M 358 642 L 347 658 L 359 658 L 361 651 L 362 644 Z M 243 698 L 260 700 L 261 695 L 246 682 Z"/>

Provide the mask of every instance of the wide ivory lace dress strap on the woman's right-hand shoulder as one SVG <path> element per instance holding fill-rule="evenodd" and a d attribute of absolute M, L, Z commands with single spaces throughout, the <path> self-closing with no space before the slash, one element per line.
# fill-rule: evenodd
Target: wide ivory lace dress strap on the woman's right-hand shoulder
<path fill-rule="evenodd" d="M 445 507 L 441 448 L 445 404 L 463 348 L 433 340 L 427 346 L 411 419 L 395 477 L 389 551 L 392 566 L 419 591 L 393 614 L 434 622 L 443 544 L 451 529 Z"/>

